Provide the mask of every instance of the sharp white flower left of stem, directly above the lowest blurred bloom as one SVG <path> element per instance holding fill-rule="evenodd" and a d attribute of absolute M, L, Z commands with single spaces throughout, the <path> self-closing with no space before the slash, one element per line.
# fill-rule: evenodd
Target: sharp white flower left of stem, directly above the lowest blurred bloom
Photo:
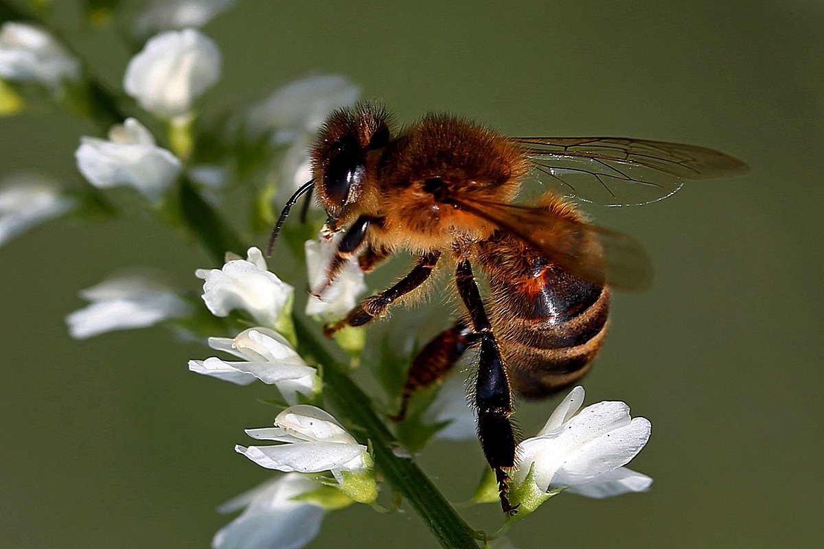
<path fill-rule="evenodd" d="M 319 407 L 299 404 L 280 412 L 275 427 L 247 429 L 257 440 L 274 440 L 277 446 L 236 446 L 238 453 L 268 469 L 283 472 L 331 471 L 342 480 L 342 471 L 371 467 L 367 448 L 349 435 L 337 420 Z"/>

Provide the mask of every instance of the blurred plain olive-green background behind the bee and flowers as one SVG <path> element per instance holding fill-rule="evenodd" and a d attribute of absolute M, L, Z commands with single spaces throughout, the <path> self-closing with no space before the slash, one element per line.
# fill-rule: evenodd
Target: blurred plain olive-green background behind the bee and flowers
<path fill-rule="evenodd" d="M 117 85 L 112 29 L 63 30 Z M 129 2 L 124 2 L 128 4 Z M 120 21 L 121 25 L 128 21 Z M 336 72 L 401 121 L 450 109 L 521 135 L 617 135 L 738 156 L 751 172 L 639 208 L 587 208 L 641 240 L 656 281 L 618 294 L 587 402 L 653 423 L 633 468 L 652 490 L 562 495 L 510 533 L 527 547 L 822 547 L 824 4 L 788 2 L 255 2 L 204 28 L 223 54 L 204 100 L 248 101 Z M 0 120 L 0 174 L 76 181 L 89 123 L 57 109 Z M 254 243 L 262 244 L 261 237 Z M 232 450 L 272 411 L 191 374 L 210 356 L 160 328 L 71 340 L 77 290 L 132 265 L 192 289 L 206 254 L 148 216 L 40 226 L 0 249 L 0 547 L 207 547 L 214 508 L 268 478 Z M 391 322 L 402 329 L 403 314 Z M 521 407 L 534 432 L 555 402 Z M 420 463 L 464 500 L 477 444 Z M 471 471 L 471 474 L 467 474 Z M 497 528 L 494 505 L 466 511 Z M 414 513 L 330 514 L 310 547 L 433 547 Z"/>

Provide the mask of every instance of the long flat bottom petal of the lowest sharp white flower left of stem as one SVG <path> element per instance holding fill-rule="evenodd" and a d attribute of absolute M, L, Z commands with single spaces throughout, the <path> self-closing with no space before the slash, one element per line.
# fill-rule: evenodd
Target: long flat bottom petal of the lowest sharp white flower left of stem
<path fill-rule="evenodd" d="M 238 454 L 267 469 L 283 472 L 321 472 L 332 469 L 363 467 L 365 446 L 337 442 L 296 442 L 278 446 L 235 447 Z M 359 465 L 359 467 L 358 467 Z"/>

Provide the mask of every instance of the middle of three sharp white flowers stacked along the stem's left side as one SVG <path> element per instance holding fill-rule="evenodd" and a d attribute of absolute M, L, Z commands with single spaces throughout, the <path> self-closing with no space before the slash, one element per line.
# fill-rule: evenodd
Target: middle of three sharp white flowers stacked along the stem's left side
<path fill-rule="evenodd" d="M 239 385 L 260 379 L 265 384 L 274 384 L 290 404 L 297 402 L 296 393 L 311 397 L 321 388 L 317 370 L 307 366 L 285 337 L 269 328 L 249 328 L 234 339 L 209 337 L 208 345 L 243 361 L 223 361 L 214 356 L 205 361 L 189 361 L 193 372 Z"/>

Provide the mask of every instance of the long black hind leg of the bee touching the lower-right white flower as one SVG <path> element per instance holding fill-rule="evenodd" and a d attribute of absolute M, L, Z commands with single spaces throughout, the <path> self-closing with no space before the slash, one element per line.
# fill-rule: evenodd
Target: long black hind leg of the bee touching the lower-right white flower
<path fill-rule="evenodd" d="M 517 508 L 508 499 L 509 471 L 515 465 L 515 432 L 509 421 L 513 413 L 512 390 L 469 260 L 458 263 L 455 281 L 458 294 L 469 311 L 472 328 L 480 338 L 478 375 L 473 394 L 478 412 L 480 446 L 486 462 L 495 472 L 501 509 L 506 514 L 515 514 Z"/>

